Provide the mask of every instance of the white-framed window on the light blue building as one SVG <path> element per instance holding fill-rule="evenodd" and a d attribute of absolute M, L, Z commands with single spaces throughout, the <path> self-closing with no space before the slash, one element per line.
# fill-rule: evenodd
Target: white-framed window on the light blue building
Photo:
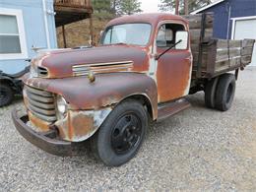
<path fill-rule="evenodd" d="M 0 59 L 26 57 L 27 47 L 22 12 L 0 9 Z"/>

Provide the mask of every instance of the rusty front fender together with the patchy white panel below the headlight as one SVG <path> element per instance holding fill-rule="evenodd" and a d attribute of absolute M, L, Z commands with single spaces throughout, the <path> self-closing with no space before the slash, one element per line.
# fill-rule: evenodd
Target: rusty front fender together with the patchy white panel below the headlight
<path fill-rule="evenodd" d="M 94 83 L 90 83 L 87 77 L 50 80 L 25 78 L 24 82 L 29 86 L 64 96 L 67 100 L 67 116 L 54 123 L 60 138 L 65 141 L 81 142 L 90 138 L 112 110 L 112 105 L 129 96 L 146 96 L 151 102 L 153 118 L 156 119 L 158 115 L 157 86 L 146 74 L 98 74 Z M 34 119 L 32 114 L 30 119 Z M 38 119 L 32 122 L 35 124 Z"/>

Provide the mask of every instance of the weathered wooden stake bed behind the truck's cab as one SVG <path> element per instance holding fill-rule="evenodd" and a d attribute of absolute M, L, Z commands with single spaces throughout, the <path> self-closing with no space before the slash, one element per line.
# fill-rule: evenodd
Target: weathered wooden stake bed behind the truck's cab
<path fill-rule="evenodd" d="M 188 15 L 184 18 L 189 21 L 190 27 L 192 79 L 213 78 L 251 63 L 255 39 L 214 38 L 212 13 Z"/>

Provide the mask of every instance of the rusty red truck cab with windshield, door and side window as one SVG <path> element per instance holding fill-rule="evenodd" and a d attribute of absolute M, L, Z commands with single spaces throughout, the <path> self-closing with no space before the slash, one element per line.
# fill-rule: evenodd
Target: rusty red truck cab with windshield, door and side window
<path fill-rule="evenodd" d="M 188 95 L 192 71 L 188 23 L 181 17 L 165 14 L 133 17 L 110 22 L 101 45 L 127 44 L 144 51 L 144 61 L 137 65 L 156 82 L 158 102 Z M 173 46 L 181 38 L 182 42 Z M 171 46 L 172 49 L 156 59 Z M 143 73 L 139 68 L 138 72 Z"/>

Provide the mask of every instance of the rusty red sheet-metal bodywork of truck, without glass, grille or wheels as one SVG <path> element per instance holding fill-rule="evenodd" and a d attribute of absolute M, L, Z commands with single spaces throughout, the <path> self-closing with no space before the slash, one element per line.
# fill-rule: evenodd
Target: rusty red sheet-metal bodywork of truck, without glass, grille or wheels
<path fill-rule="evenodd" d="M 155 59 L 155 55 L 163 51 L 155 47 L 162 21 L 177 21 L 188 30 L 187 22 L 179 16 L 127 16 L 111 21 L 107 27 L 126 23 L 151 24 L 152 34 L 147 46 L 118 44 L 80 50 L 65 49 L 43 53 L 33 59 L 32 67 L 45 68 L 48 74 L 43 78 L 27 75 L 25 84 L 63 96 L 69 104 L 66 118 L 48 127 L 57 127 L 60 137 L 66 141 L 83 141 L 96 132 L 115 104 L 129 96 L 143 96 L 150 103 L 152 117 L 156 120 L 160 102 L 186 95 L 191 74 L 190 50 L 171 50 L 160 60 Z M 109 66 L 111 63 L 114 65 Z M 127 68 L 122 68 L 122 65 Z M 87 76 L 76 77 L 74 66 L 93 71 L 95 82 L 91 82 Z M 40 120 L 32 117 L 32 123 L 45 130 Z"/>

